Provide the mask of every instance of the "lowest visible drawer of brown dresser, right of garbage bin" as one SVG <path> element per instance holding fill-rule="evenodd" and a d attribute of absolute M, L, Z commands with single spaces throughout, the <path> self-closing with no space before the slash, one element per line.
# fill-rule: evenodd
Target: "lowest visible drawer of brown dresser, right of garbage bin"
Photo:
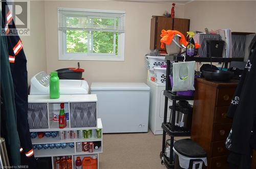
<path fill-rule="evenodd" d="M 210 169 L 228 169 L 227 156 L 211 158 L 209 166 Z"/>

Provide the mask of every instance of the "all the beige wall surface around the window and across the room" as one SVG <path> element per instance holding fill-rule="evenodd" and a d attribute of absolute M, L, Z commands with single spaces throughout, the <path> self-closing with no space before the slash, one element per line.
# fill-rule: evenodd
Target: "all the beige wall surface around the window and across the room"
<path fill-rule="evenodd" d="M 143 55 L 149 51 L 152 15 L 170 11 L 171 3 L 116 1 L 31 1 L 31 35 L 20 37 L 28 60 L 28 77 L 41 70 L 76 66 L 77 61 L 58 60 L 57 8 L 85 8 L 126 11 L 125 60 L 80 61 L 89 82 L 145 82 Z M 190 30 L 231 28 L 256 32 L 255 1 L 194 1 L 176 5 L 175 16 L 190 19 Z"/>

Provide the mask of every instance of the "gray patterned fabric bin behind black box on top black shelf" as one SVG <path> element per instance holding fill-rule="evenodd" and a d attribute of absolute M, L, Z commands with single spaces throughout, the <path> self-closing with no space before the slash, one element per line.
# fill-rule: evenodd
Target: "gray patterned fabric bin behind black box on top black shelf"
<path fill-rule="evenodd" d="M 207 57 L 207 40 L 222 40 L 220 35 L 211 34 L 196 34 L 193 38 L 196 43 L 201 45 L 201 47 L 198 49 L 198 54 L 200 57 Z"/>

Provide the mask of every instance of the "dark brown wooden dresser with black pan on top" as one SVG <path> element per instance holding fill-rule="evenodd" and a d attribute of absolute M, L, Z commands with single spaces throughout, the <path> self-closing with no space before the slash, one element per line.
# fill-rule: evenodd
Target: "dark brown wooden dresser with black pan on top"
<path fill-rule="evenodd" d="M 206 151 L 208 169 L 229 168 L 225 140 L 232 120 L 226 113 L 237 84 L 238 81 L 219 83 L 197 79 L 191 139 Z"/>

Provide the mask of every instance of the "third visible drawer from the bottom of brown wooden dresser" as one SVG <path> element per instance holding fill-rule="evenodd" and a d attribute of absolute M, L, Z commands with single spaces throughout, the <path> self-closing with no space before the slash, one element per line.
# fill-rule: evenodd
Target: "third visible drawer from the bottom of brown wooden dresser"
<path fill-rule="evenodd" d="M 231 126 L 231 124 L 214 124 L 214 130 L 212 131 L 212 141 L 226 140 Z"/>

